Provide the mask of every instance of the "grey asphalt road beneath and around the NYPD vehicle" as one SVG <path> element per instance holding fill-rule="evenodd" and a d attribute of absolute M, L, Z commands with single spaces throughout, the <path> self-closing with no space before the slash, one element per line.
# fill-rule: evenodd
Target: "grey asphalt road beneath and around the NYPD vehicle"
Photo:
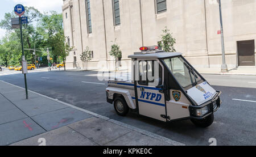
<path fill-rule="evenodd" d="M 209 128 L 197 128 L 191 121 L 164 123 L 129 113 L 118 116 L 106 103 L 106 81 L 95 72 L 28 73 L 28 89 L 77 107 L 151 131 L 185 145 L 256 145 L 256 76 L 204 75 L 215 90 L 222 91 L 221 108 Z M 0 79 L 24 87 L 22 74 L 1 75 Z M 40 103 L 40 102 L 39 102 Z"/>

